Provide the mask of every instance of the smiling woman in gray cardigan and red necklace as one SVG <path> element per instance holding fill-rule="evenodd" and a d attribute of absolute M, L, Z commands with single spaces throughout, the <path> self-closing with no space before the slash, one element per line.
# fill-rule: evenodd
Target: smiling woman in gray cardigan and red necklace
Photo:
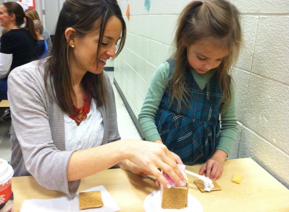
<path fill-rule="evenodd" d="M 21 66 L 8 78 L 14 176 L 31 174 L 42 186 L 69 196 L 79 179 L 116 164 L 153 174 L 170 187 L 159 171 L 166 170 L 183 184 L 164 145 L 120 140 L 113 89 L 103 67 L 119 54 L 125 37 L 116 0 L 64 2 L 51 57 Z"/>

